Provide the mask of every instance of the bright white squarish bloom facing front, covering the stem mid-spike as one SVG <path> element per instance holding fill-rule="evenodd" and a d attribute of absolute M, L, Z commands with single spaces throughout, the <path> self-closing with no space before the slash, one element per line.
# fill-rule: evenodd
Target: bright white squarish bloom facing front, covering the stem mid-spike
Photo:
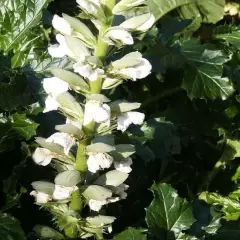
<path fill-rule="evenodd" d="M 110 125 L 110 118 L 111 110 L 107 104 L 96 101 L 88 101 L 85 104 L 83 125 L 86 126 L 92 121 L 97 123 L 106 122 L 107 125 Z"/>

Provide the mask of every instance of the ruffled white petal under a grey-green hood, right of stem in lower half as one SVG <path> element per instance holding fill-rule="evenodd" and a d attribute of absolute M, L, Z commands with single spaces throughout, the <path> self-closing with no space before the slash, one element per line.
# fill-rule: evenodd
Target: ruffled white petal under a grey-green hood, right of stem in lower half
<path fill-rule="evenodd" d="M 113 158 L 107 153 L 88 153 L 88 170 L 96 173 L 100 169 L 110 168 Z"/>

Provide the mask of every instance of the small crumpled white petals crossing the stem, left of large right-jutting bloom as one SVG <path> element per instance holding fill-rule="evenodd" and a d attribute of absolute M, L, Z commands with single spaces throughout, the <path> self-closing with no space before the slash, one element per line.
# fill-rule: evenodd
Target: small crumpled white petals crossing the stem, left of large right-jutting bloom
<path fill-rule="evenodd" d="M 81 76 L 87 78 L 89 81 L 96 81 L 99 76 L 104 74 L 104 70 L 94 68 L 88 63 L 78 61 L 73 65 L 74 72 L 79 73 Z"/>

